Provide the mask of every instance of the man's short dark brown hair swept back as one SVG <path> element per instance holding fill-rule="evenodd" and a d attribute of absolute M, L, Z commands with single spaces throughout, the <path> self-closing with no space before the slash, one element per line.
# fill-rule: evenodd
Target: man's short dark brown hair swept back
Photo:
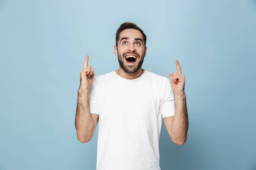
<path fill-rule="evenodd" d="M 131 22 L 126 22 L 126 23 L 122 23 L 119 28 L 117 29 L 116 31 L 116 47 L 117 47 L 117 44 L 118 44 L 118 41 L 119 41 L 119 36 L 120 36 L 120 33 L 122 31 L 124 31 L 125 29 L 129 29 L 129 28 L 132 28 L 132 29 L 137 29 L 141 32 L 141 34 L 143 35 L 143 42 L 144 42 L 144 45 L 146 47 L 146 40 L 147 40 L 147 37 L 146 35 L 144 34 L 144 32 L 142 31 L 142 29 L 140 29 L 140 27 L 138 27 L 135 23 L 131 23 Z"/>

